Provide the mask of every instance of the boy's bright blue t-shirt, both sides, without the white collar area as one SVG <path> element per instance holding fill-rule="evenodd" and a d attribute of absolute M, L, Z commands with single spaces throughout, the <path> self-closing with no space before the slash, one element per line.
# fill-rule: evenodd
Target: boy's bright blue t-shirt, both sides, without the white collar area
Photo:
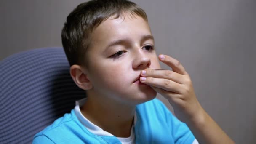
<path fill-rule="evenodd" d="M 136 144 L 192 144 L 195 140 L 158 99 L 136 106 Z M 115 136 L 97 136 L 78 120 L 74 109 L 34 136 L 33 144 L 120 144 Z"/>

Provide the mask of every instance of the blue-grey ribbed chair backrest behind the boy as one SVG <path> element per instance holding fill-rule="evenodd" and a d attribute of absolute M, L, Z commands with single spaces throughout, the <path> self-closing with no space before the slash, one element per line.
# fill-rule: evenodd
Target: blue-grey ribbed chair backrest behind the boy
<path fill-rule="evenodd" d="M 0 144 L 31 143 L 82 98 L 63 48 L 33 49 L 0 61 Z"/>

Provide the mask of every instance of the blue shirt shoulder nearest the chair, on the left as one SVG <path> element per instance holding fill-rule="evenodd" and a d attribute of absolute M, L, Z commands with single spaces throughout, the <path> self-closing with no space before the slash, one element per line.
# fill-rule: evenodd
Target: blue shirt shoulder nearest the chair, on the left
<path fill-rule="evenodd" d="M 88 131 L 73 109 L 71 113 L 65 114 L 37 133 L 33 144 L 102 144 L 116 140 L 114 136 L 97 136 Z"/>

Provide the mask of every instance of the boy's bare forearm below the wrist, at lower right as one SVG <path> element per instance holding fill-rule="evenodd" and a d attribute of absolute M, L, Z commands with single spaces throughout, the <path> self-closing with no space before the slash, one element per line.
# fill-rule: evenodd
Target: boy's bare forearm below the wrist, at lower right
<path fill-rule="evenodd" d="M 200 115 L 187 125 L 200 144 L 234 144 L 219 125 L 202 108 Z"/>

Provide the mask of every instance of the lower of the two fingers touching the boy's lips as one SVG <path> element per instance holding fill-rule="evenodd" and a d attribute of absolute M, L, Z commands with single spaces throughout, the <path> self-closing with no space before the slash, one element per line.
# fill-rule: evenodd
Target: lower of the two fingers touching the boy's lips
<path fill-rule="evenodd" d="M 173 82 L 171 80 L 154 78 L 154 77 L 140 77 L 141 83 L 152 85 L 157 88 L 162 88 L 165 91 L 171 91 L 174 93 L 181 93 L 181 84 Z"/>

